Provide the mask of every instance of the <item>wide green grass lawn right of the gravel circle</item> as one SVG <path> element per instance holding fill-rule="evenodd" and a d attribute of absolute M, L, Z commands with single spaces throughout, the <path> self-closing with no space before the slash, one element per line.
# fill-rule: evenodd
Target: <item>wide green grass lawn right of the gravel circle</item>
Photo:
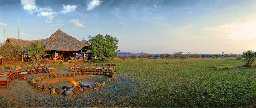
<path fill-rule="evenodd" d="M 166 61 L 169 64 L 166 64 Z M 230 58 L 114 60 L 117 73 L 144 81 L 126 107 L 250 107 L 256 104 L 256 69 Z M 218 67 L 232 67 L 218 69 Z M 119 104 L 120 105 L 120 104 Z"/>

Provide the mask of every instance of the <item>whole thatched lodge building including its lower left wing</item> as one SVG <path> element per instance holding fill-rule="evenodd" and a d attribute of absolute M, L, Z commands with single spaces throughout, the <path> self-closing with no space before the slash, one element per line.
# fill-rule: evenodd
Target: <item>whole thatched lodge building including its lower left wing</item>
<path fill-rule="evenodd" d="M 25 46 L 28 46 L 31 42 L 38 41 L 42 45 L 45 45 L 44 51 L 46 51 L 49 56 L 43 59 L 55 59 L 55 60 L 71 60 L 71 59 L 80 59 L 85 57 L 85 52 L 88 51 L 89 45 L 84 42 L 77 40 L 76 38 L 66 34 L 61 31 L 60 28 L 53 33 L 47 39 L 40 40 L 23 40 L 15 38 L 7 38 L 6 43 L 11 43 L 12 45 L 19 46 L 21 49 L 24 49 Z M 26 53 L 26 52 L 23 52 Z M 76 53 L 84 54 L 80 58 L 76 57 Z"/>

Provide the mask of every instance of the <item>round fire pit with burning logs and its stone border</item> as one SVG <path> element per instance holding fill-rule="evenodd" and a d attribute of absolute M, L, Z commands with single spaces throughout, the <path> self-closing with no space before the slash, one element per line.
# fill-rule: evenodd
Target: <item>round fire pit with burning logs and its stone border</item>
<path fill-rule="evenodd" d="M 30 80 L 30 84 L 36 89 L 45 93 L 59 93 L 66 96 L 73 96 L 79 92 L 104 86 L 109 82 L 116 80 L 114 74 L 106 73 L 73 73 L 59 75 L 45 75 Z"/>

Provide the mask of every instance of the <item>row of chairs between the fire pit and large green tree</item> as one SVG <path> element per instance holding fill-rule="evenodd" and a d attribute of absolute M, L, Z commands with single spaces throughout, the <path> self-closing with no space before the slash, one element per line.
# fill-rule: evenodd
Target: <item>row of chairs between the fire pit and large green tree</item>
<path fill-rule="evenodd" d="M 82 72 L 82 69 L 84 69 L 84 72 L 85 71 L 89 71 L 89 72 L 92 72 L 92 71 L 97 71 L 97 68 L 101 68 L 101 69 L 104 69 L 103 72 L 108 72 L 108 73 L 116 73 L 116 64 L 112 64 L 110 66 L 110 64 L 89 64 L 89 63 L 69 63 L 69 72 L 71 71 L 80 71 Z"/>

